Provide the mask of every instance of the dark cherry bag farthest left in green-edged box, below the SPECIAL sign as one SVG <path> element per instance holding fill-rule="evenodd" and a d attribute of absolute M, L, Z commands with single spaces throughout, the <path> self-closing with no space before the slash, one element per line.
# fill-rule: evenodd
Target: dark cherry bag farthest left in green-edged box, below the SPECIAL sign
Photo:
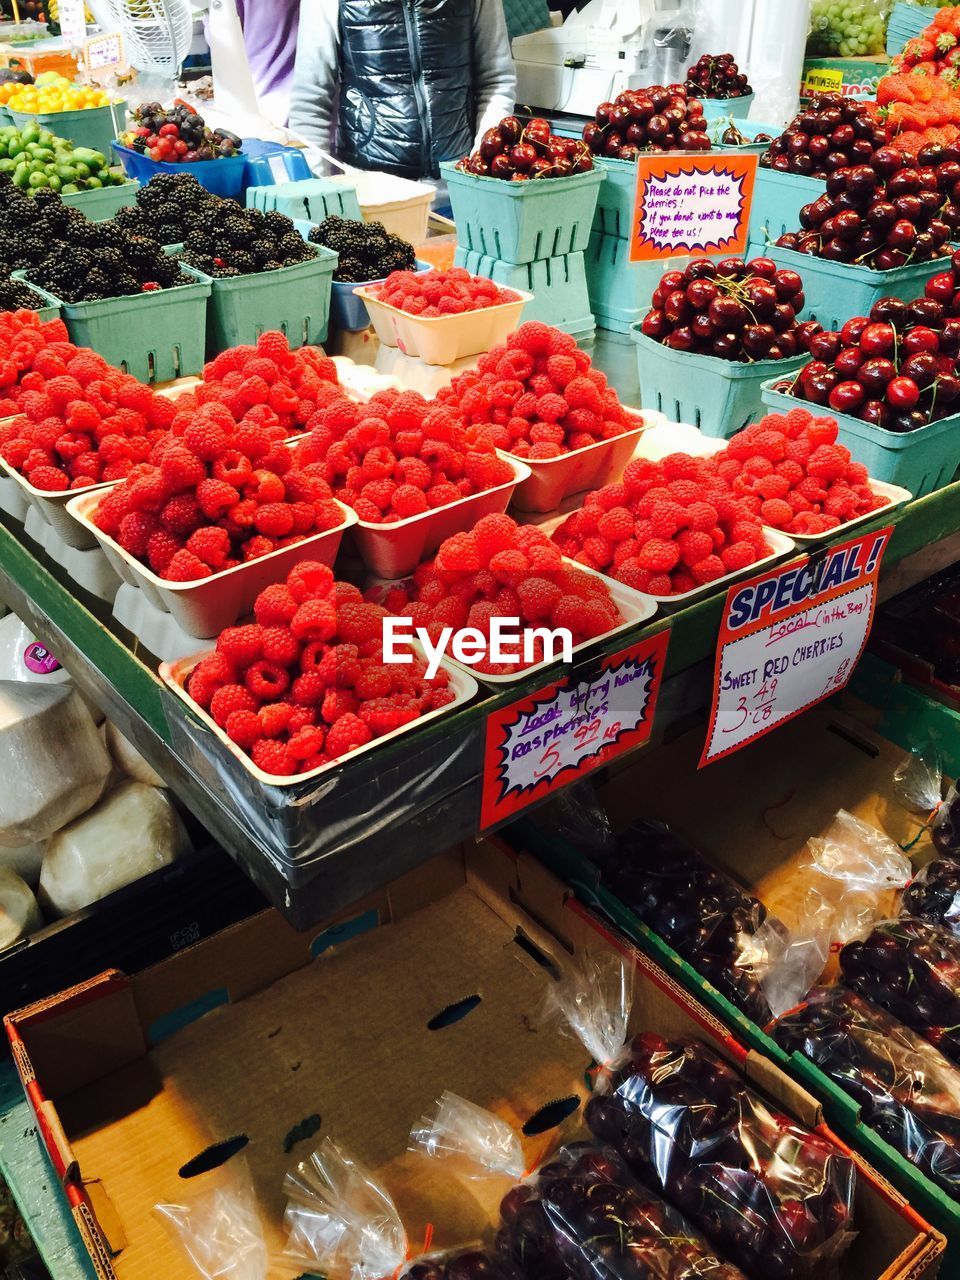
<path fill-rule="evenodd" d="M 644 924 L 754 1021 L 769 1021 L 762 978 L 786 929 L 763 902 L 659 822 L 632 823 L 594 860 Z"/>

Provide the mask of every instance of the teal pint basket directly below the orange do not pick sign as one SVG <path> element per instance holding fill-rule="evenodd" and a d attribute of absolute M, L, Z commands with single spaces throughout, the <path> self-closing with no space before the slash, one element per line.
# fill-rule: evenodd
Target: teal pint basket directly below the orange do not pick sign
<path fill-rule="evenodd" d="M 659 410 L 671 422 L 689 422 L 704 435 L 723 440 L 762 416 L 767 380 L 780 381 L 806 364 L 803 355 L 744 365 L 673 351 L 643 334 L 639 324 L 630 334 L 636 343 L 640 406 Z"/>

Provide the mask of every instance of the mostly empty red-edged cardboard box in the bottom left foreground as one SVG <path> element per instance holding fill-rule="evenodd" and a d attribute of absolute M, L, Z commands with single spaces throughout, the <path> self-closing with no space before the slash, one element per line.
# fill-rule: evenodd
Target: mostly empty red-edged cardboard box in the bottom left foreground
<path fill-rule="evenodd" d="M 238 1134 L 279 1244 L 283 1174 L 310 1149 L 287 1156 L 283 1138 L 314 1112 L 383 1178 L 411 1236 L 433 1222 L 436 1245 L 454 1245 L 489 1230 L 503 1183 L 460 1183 L 410 1155 L 411 1125 L 445 1088 L 515 1125 L 558 1098 L 582 1101 L 584 1048 L 539 1015 L 558 972 L 605 950 L 635 957 L 637 1027 L 707 1041 L 828 1133 L 810 1094 L 598 931 L 539 863 L 492 842 L 435 859 L 320 933 L 268 911 L 154 969 L 106 973 L 13 1014 L 6 1029 L 102 1277 L 189 1280 L 151 1210 L 182 1193 L 184 1161 Z M 480 1000 L 466 1016 L 436 1025 L 470 996 Z M 531 1161 L 543 1140 L 527 1139 Z M 932 1276 L 942 1236 L 854 1160 L 859 1235 L 842 1274 Z"/>

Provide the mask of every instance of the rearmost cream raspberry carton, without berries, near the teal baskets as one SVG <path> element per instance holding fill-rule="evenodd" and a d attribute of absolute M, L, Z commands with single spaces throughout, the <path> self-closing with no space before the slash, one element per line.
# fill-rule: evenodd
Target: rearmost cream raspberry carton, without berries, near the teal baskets
<path fill-rule="evenodd" d="M 516 302 L 503 302 L 477 311 L 449 316 L 416 316 L 388 302 L 381 302 L 378 289 L 353 291 L 366 305 L 376 337 L 387 347 L 399 347 L 407 356 L 416 356 L 425 365 L 452 365 L 467 356 L 479 356 L 506 342 L 520 324 L 532 293 L 511 289 Z"/>

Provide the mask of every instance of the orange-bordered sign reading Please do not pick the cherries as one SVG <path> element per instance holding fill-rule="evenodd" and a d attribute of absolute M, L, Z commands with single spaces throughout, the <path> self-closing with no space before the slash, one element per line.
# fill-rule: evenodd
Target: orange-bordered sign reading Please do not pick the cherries
<path fill-rule="evenodd" d="M 742 253 L 756 161 L 732 155 L 639 156 L 630 261 Z"/>

